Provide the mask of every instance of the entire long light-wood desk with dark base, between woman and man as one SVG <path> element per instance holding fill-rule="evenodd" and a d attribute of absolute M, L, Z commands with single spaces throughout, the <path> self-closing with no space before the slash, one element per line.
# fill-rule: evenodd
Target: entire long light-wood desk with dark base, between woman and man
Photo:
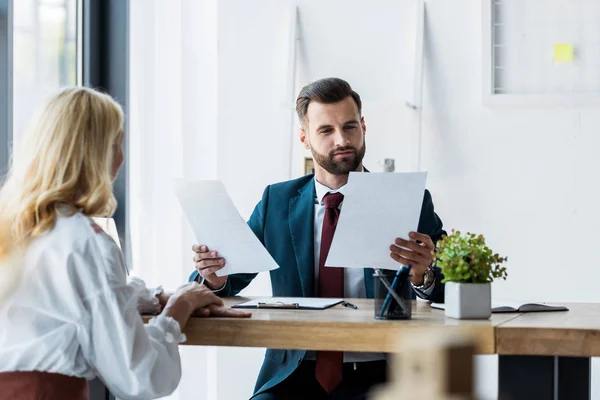
<path fill-rule="evenodd" d="M 227 306 L 247 298 L 224 299 Z M 403 334 L 435 329 L 469 335 L 478 354 L 499 354 L 499 393 L 513 400 L 590 397 L 590 357 L 600 356 L 600 304 L 566 304 L 568 312 L 492 314 L 454 320 L 413 302 L 411 320 L 374 319 L 373 300 L 349 299 L 327 310 L 250 310 L 249 319 L 194 318 L 186 345 L 394 352 Z M 565 357 L 568 356 L 568 357 Z"/>

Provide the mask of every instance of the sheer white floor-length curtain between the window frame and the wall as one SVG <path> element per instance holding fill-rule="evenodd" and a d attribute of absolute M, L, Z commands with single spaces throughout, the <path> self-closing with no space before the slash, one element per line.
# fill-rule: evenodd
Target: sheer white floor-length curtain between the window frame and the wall
<path fill-rule="evenodd" d="M 193 270 L 194 236 L 173 179 L 216 178 L 216 0 L 130 7 L 131 267 L 174 289 Z M 216 399 L 216 349 L 180 353 L 184 376 L 169 399 Z"/>

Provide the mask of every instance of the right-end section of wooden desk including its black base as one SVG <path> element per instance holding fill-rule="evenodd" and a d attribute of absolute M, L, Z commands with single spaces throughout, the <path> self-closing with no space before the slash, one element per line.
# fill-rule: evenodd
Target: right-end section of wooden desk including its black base
<path fill-rule="evenodd" d="M 499 392 L 507 398 L 584 399 L 600 356 L 600 304 L 525 313 L 496 327 Z"/>

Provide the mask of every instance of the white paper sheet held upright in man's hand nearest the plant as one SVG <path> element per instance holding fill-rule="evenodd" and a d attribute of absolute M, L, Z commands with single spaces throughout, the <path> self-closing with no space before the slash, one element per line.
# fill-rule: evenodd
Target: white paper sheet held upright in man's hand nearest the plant
<path fill-rule="evenodd" d="M 417 230 L 426 180 L 427 172 L 350 172 L 325 265 L 402 268 L 389 247 Z"/>

